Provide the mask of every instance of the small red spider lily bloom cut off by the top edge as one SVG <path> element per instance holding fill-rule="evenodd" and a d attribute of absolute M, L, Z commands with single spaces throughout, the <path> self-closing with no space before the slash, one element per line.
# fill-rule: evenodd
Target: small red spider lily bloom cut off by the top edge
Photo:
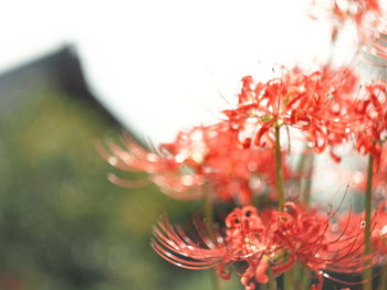
<path fill-rule="evenodd" d="M 324 2 L 313 0 L 312 7 L 325 9 L 325 12 L 327 14 L 326 18 L 330 18 L 332 21 L 331 39 L 333 42 L 336 40 L 337 33 L 345 22 L 353 21 L 357 30 L 360 30 L 363 21 L 367 14 L 381 14 L 381 9 L 378 0 L 331 0 Z M 311 17 L 313 19 L 321 18 L 321 15 Z"/>

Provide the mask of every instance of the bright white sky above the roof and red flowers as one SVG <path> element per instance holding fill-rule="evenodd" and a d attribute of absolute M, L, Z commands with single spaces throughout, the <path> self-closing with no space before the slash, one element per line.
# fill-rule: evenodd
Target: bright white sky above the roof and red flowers
<path fill-rule="evenodd" d="M 244 75 L 328 49 L 307 0 L 1 2 L 0 72 L 74 44 L 96 96 L 156 141 L 213 117 Z"/>

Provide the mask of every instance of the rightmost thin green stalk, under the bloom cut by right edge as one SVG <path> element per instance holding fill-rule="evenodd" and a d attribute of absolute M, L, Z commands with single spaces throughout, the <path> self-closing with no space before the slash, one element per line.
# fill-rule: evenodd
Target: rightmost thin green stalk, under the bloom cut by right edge
<path fill-rule="evenodd" d="M 366 196 L 364 202 L 364 208 L 366 214 L 365 219 L 365 228 L 364 228 L 364 237 L 365 237 L 365 250 L 364 250 L 364 257 L 365 257 L 365 270 L 363 271 L 363 278 L 365 280 L 364 283 L 364 290 L 372 290 L 373 289 L 373 268 L 370 265 L 370 253 L 372 253 L 372 245 L 370 245 L 370 215 L 372 215 L 372 197 L 373 197 L 373 173 L 374 173 L 374 158 L 372 154 L 369 154 L 368 158 L 368 169 L 367 169 L 367 186 L 366 186 Z"/>

